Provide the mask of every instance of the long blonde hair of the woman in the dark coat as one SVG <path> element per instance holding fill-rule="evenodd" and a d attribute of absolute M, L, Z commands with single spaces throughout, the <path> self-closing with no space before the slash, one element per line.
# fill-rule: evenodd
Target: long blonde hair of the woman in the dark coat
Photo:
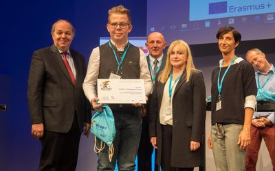
<path fill-rule="evenodd" d="M 170 63 L 170 54 L 174 47 L 179 47 L 179 51 L 183 52 L 184 55 L 186 55 L 186 82 L 188 82 L 190 79 L 191 71 L 196 69 L 192 60 L 192 54 L 189 45 L 186 42 L 184 42 L 184 40 L 175 40 L 170 44 L 168 48 L 165 68 L 157 78 L 157 80 L 161 83 L 165 83 L 167 81 L 167 79 L 170 76 L 170 73 L 173 70 L 173 66 Z"/>

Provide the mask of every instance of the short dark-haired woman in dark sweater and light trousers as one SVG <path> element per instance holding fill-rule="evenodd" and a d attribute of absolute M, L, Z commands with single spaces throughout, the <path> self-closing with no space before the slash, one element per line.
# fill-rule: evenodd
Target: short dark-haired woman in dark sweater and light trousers
<path fill-rule="evenodd" d="M 250 144 L 250 126 L 256 106 L 256 81 L 250 63 L 235 55 L 241 34 L 234 27 L 217 31 L 223 59 L 212 72 L 211 134 L 217 171 L 245 170 L 245 148 Z"/>

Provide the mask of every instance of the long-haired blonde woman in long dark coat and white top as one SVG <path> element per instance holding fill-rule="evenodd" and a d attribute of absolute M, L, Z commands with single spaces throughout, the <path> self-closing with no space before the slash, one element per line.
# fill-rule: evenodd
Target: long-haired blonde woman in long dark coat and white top
<path fill-rule="evenodd" d="M 175 40 L 155 79 L 149 114 L 151 144 L 162 171 L 193 170 L 203 164 L 205 99 L 203 74 L 195 69 L 188 44 Z"/>

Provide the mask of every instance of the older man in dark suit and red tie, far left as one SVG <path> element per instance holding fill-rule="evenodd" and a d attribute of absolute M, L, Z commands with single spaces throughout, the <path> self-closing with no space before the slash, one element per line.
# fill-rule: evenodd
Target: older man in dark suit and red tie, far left
<path fill-rule="evenodd" d="M 75 170 L 81 132 L 88 137 L 91 107 L 83 92 L 83 55 L 69 49 L 74 27 L 52 25 L 50 47 L 34 51 L 28 81 L 32 135 L 41 140 L 40 170 Z M 83 128 L 84 127 L 84 128 Z"/>

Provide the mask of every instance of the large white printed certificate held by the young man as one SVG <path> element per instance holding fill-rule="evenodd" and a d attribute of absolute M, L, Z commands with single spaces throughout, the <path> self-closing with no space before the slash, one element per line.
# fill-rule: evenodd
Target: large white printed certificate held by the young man
<path fill-rule="evenodd" d="M 146 103 L 143 79 L 98 79 L 99 103 Z"/>

